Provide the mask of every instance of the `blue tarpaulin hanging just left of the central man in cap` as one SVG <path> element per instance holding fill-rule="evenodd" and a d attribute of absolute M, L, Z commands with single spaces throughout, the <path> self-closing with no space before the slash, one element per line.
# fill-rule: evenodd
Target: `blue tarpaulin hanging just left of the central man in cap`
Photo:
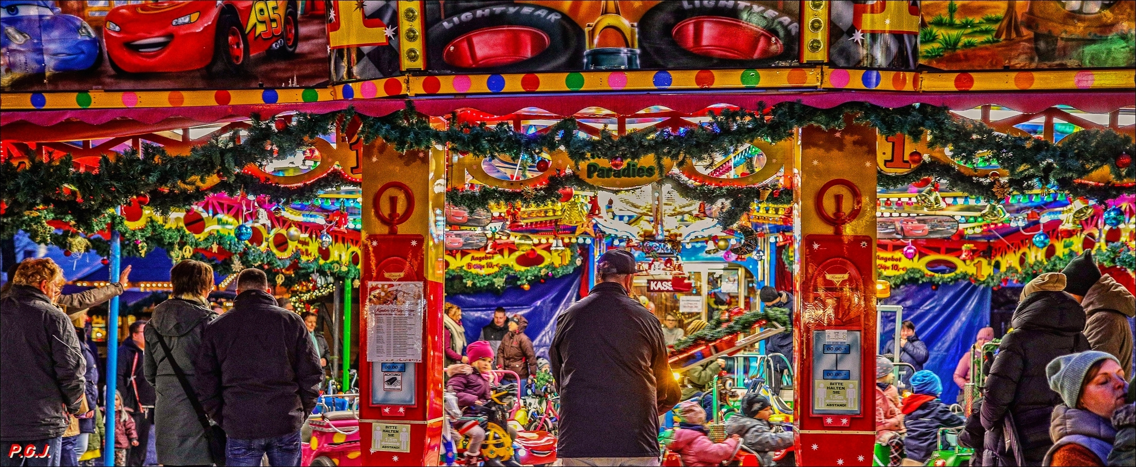
<path fill-rule="evenodd" d="M 493 292 L 449 294 L 445 301 L 461 307 L 461 324 L 466 340 L 474 342 L 482 334 L 482 326 L 493 320 L 493 310 L 504 307 L 509 316 L 521 315 L 528 319 L 525 334 L 533 340 L 540 357 L 549 356 L 557 315 L 579 299 L 579 276 L 583 268 L 544 283 L 531 284 L 528 290 L 506 289 L 500 295 Z"/>

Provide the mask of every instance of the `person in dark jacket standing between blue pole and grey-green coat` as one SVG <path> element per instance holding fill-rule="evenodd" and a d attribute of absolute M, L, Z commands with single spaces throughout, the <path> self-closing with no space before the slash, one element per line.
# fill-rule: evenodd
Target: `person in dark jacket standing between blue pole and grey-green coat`
<path fill-rule="evenodd" d="M 128 466 L 145 465 L 157 399 L 153 385 L 145 380 L 145 325 L 144 319 L 131 323 L 131 335 L 118 347 L 118 392 L 123 394 L 123 409 L 134 418 L 139 432 L 139 445 L 126 453 Z"/>

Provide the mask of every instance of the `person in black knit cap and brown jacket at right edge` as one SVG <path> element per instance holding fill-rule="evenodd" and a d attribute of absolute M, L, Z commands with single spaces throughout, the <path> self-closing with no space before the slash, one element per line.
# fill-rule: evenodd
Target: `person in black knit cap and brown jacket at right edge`
<path fill-rule="evenodd" d="M 1101 274 L 1091 250 L 1069 261 L 1061 273 L 1066 275 L 1066 293 L 1085 309 L 1085 337 L 1089 347 L 1116 357 L 1125 374 L 1130 375 L 1133 330 L 1128 318 L 1136 315 L 1136 298 L 1112 276 Z"/>

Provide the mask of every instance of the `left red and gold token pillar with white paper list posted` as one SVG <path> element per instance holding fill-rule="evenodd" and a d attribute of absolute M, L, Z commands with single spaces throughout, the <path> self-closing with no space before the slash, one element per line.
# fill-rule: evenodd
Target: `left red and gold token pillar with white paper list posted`
<path fill-rule="evenodd" d="M 434 235 L 443 227 L 435 220 L 445 202 L 444 158 L 433 151 L 400 153 L 383 141 L 358 151 L 362 465 L 437 465 L 445 266 Z"/>

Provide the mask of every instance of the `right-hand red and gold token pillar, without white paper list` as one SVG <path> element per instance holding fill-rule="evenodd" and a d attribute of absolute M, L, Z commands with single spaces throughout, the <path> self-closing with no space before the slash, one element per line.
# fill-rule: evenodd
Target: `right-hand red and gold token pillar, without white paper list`
<path fill-rule="evenodd" d="M 876 132 L 800 130 L 794 155 L 796 460 L 870 466 L 876 383 Z"/>

